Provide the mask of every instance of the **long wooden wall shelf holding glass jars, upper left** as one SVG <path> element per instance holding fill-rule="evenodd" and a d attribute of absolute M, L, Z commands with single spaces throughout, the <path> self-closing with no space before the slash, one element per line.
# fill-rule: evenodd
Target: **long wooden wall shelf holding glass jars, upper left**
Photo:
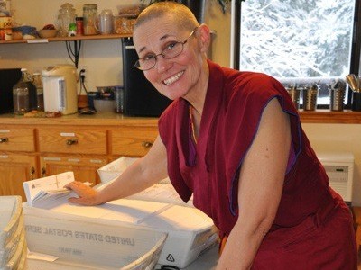
<path fill-rule="evenodd" d="M 58 41 L 77 41 L 77 40 L 114 40 L 131 37 L 132 34 L 108 34 L 108 35 L 91 35 L 91 36 L 75 36 L 66 38 L 49 38 L 49 39 L 33 39 L 33 40 L 0 40 L 0 44 L 14 44 L 14 43 L 48 43 Z"/>

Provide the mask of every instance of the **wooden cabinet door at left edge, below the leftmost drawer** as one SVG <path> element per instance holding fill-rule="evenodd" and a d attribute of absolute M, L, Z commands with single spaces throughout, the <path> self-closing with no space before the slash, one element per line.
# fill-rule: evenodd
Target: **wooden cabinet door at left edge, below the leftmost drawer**
<path fill-rule="evenodd" d="M 20 195 L 26 202 L 23 182 L 38 177 L 36 157 L 0 154 L 0 195 Z"/>

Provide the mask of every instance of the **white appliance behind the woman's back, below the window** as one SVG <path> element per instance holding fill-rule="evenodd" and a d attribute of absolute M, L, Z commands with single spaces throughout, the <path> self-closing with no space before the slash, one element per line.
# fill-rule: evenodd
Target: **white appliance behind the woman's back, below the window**
<path fill-rule="evenodd" d="M 355 157 L 350 152 L 318 152 L 317 157 L 329 176 L 329 185 L 349 206 L 352 204 Z"/>

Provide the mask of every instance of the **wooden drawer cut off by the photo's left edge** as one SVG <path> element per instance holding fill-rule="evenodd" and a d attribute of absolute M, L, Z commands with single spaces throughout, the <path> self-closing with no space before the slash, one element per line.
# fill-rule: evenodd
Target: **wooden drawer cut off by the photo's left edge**
<path fill-rule="evenodd" d="M 0 128 L 1 151 L 35 151 L 34 132 L 32 128 Z"/>

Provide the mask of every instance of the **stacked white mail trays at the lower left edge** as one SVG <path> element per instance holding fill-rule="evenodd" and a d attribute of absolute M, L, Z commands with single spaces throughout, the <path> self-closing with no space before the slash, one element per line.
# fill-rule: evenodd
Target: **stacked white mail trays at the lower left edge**
<path fill-rule="evenodd" d="M 24 269 L 27 246 L 22 198 L 0 196 L 0 269 Z"/>

